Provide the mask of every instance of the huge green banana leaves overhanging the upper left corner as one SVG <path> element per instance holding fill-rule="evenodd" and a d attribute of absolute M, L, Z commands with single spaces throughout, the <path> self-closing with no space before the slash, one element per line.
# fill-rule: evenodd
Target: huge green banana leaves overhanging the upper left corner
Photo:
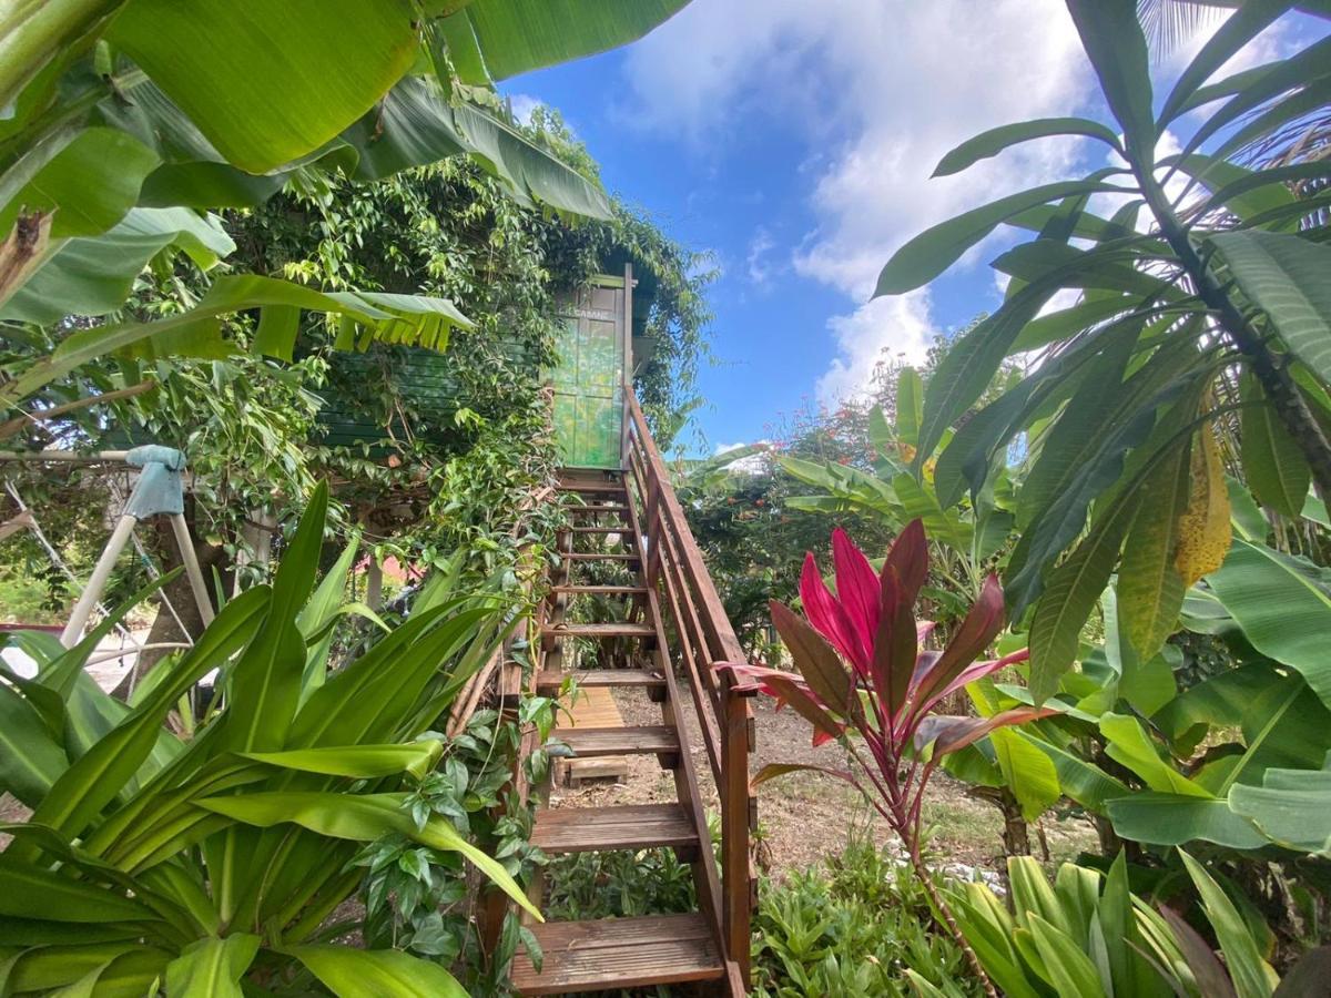
<path fill-rule="evenodd" d="M 551 21 L 527 0 L 421 5 L 342 0 L 281 9 L 157 0 L 20 5 L 0 13 L 0 318 L 48 325 L 121 306 L 149 261 L 208 267 L 233 244 L 212 216 L 289 181 L 355 181 L 469 154 L 512 197 L 607 218 L 588 180 L 530 141 L 496 80 L 636 39 L 681 1 L 614 13 L 576 3 Z M 326 71 L 338 67 L 334 75 Z M 435 345 L 465 325 L 447 302 L 342 293 L 233 275 L 188 314 L 75 334 L 0 389 L 13 406 L 112 350 L 217 355 L 218 317 L 262 309 L 254 349 L 290 357 L 301 309 L 339 317 L 345 343 Z"/>

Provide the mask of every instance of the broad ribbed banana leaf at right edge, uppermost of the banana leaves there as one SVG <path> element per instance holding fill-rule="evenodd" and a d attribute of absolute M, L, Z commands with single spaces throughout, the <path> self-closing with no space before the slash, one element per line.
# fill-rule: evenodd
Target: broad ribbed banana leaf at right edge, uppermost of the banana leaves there
<path fill-rule="evenodd" d="M 1206 580 L 1262 655 L 1296 669 L 1331 707 L 1331 596 L 1311 564 L 1235 538 L 1219 571 Z"/>

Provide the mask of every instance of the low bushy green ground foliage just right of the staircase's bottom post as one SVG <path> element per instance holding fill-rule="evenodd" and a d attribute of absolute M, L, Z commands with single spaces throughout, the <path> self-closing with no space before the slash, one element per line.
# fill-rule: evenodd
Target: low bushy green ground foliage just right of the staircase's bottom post
<path fill-rule="evenodd" d="M 755 994 L 913 994 L 904 969 L 953 998 L 981 993 L 956 943 L 934 926 L 924 889 L 889 850 L 852 837 L 821 868 L 760 886 Z"/>

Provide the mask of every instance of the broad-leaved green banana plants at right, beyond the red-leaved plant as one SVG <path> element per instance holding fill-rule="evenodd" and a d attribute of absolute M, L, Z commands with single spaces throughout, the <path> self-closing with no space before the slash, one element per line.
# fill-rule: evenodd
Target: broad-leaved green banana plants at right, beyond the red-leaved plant
<path fill-rule="evenodd" d="M 1235 538 L 1185 620 L 1225 635 L 1239 664 L 1183 689 L 1177 649 L 1135 659 L 1107 596 L 1105 645 L 1062 677 L 1063 709 L 1016 733 L 1062 793 L 1129 841 L 1326 854 L 1331 709 L 1310 637 L 1331 624 L 1322 570 Z M 982 692 L 989 711 L 1033 703 L 1021 687 Z"/>

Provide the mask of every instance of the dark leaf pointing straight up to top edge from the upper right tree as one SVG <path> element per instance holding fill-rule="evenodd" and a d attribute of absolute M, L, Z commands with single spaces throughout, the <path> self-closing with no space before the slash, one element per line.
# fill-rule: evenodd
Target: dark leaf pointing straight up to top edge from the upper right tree
<path fill-rule="evenodd" d="M 1153 164 L 1157 133 L 1150 56 L 1135 1 L 1067 0 L 1067 11 L 1109 109 L 1123 128 L 1129 161 Z"/>

